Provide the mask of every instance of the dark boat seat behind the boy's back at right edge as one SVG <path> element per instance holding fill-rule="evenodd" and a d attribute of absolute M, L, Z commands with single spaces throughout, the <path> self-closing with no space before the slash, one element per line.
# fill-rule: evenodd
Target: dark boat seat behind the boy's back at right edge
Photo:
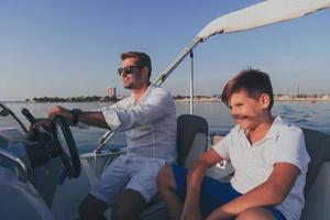
<path fill-rule="evenodd" d="M 311 158 L 305 185 L 305 208 L 301 220 L 330 219 L 330 136 L 302 129 L 307 152 Z"/>

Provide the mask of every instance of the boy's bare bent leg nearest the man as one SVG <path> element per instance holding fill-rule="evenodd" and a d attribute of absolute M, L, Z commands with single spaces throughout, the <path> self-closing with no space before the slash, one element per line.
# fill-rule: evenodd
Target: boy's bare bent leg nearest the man
<path fill-rule="evenodd" d="M 163 166 L 158 173 L 157 186 L 160 194 L 169 210 L 170 219 L 179 220 L 184 205 L 176 194 L 176 180 L 169 165 Z"/>

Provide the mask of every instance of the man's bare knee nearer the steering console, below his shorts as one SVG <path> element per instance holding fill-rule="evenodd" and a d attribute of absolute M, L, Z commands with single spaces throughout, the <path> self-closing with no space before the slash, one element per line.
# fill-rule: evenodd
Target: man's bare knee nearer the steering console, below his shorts
<path fill-rule="evenodd" d="M 103 220 L 103 212 L 108 206 L 105 201 L 88 194 L 79 206 L 79 216 L 81 220 Z"/>

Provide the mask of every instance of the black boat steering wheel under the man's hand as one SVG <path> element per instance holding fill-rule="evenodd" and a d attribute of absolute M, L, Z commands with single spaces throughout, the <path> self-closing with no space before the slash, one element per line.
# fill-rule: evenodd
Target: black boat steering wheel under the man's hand
<path fill-rule="evenodd" d="M 73 133 L 62 116 L 54 118 L 55 140 L 58 143 L 59 156 L 69 178 L 80 175 L 80 158 Z"/>

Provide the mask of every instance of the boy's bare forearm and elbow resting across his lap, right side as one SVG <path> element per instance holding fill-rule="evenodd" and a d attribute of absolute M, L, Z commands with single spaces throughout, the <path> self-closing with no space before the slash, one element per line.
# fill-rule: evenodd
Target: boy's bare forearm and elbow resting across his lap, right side
<path fill-rule="evenodd" d="M 207 219 L 228 219 L 250 208 L 278 205 L 288 195 L 299 174 L 300 169 L 293 164 L 275 164 L 265 183 L 216 209 Z"/>

